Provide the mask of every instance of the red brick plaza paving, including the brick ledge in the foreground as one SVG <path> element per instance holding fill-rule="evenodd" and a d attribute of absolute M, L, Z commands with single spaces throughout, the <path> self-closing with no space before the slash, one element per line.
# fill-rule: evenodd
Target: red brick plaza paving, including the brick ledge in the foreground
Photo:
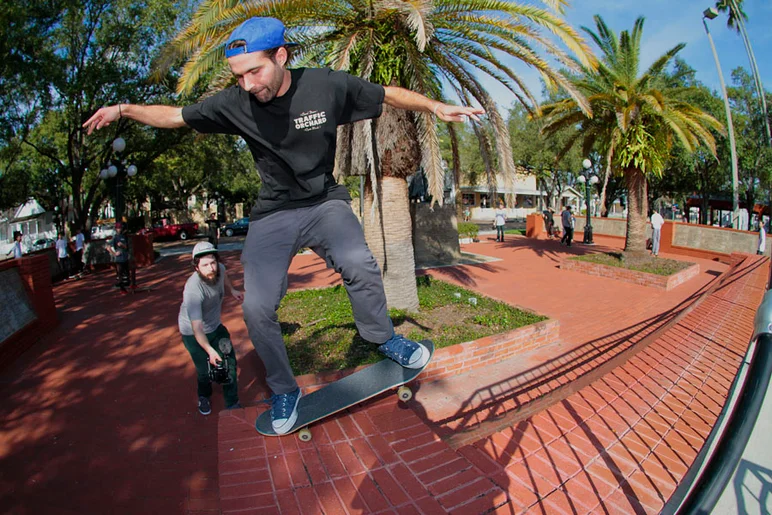
<path fill-rule="evenodd" d="M 0 374 L 0 460 L 13 471 L 0 477 L 0 505 L 13 514 L 214 514 L 258 505 L 266 513 L 655 512 L 675 481 L 663 469 L 683 468 L 680 453 L 689 459 L 704 437 L 696 429 L 673 436 L 683 417 L 671 421 L 671 412 L 679 402 L 679 414 L 695 402 L 707 410 L 698 417 L 720 409 L 766 270 L 747 264 L 719 286 L 727 265 L 704 261 L 698 278 L 661 293 L 559 270 L 569 249 L 556 242 L 512 238 L 465 250 L 501 261 L 431 273 L 557 318 L 561 342 L 483 377 L 422 385 L 411 409 L 393 396 L 363 405 L 317 428 L 309 444 L 255 434 L 261 365 L 231 301 L 224 323 L 251 406 L 197 413 L 175 323 L 186 256 L 145 271 L 154 290 L 136 296 L 110 291 L 106 273 L 57 286 L 61 325 Z M 226 265 L 240 275 L 236 253 Z M 314 256 L 298 256 L 290 280 L 302 288 L 337 277 Z M 718 293 L 690 311 L 711 288 Z M 657 332 L 665 326 L 666 338 Z M 714 347 L 711 331 L 730 345 Z M 646 350 L 614 375 L 587 375 L 608 362 L 604 355 L 626 357 L 636 338 Z M 572 377 L 587 384 L 571 392 Z M 525 399 L 541 399 L 544 409 L 518 412 Z M 652 412 L 673 425 L 650 422 Z M 678 438 L 691 446 L 674 451 Z"/>

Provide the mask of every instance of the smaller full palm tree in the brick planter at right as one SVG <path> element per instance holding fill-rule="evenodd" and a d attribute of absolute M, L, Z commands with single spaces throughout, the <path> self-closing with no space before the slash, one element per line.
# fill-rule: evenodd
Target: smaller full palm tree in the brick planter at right
<path fill-rule="evenodd" d="M 646 250 L 647 175 L 661 176 L 673 137 L 690 151 L 704 144 L 715 155 L 710 129 L 722 128 L 712 116 L 679 100 L 679 90 L 663 80 L 667 65 L 683 44 L 640 73 L 643 21 L 638 18 L 632 32 L 622 31 L 619 37 L 600 16 L 595 16 L 597 32 L 582 27 L 601 51 L 597 71 L 585 69 L 573 79 L 590 102 L 592 118 L 573 99 L 542 106 L 547 134 L 578 127 L 569 145 L 580 139 L 585 150 L 597 145 L 606 156 L 607 168 L 623 174 L 629 198 L 628 252 Z"/>

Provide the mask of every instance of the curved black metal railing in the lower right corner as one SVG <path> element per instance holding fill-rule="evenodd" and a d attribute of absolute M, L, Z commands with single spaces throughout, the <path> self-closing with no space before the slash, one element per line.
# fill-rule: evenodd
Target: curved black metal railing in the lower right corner
<path fill-rule="evenodd" d="M 735 390 L 740 388 L 737 402 L 727 402 L 724 406 L 708 439 L 668 499 L 662 514 L 711 513 L 742 458 L 772 377 L 772 270 L 767 293 L 756 311 L 751 341 L 754 340 L 748 371 L 740 380 L 741 369 L 730 389 L 728 399 L 734 398 Z M 725 419 L 724 425 L 722 422 Z"/>

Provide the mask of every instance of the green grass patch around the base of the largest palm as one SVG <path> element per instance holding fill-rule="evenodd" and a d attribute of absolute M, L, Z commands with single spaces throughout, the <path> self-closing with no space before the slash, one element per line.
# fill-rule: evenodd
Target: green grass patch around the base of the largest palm
<path fill-rule="evenodd" d="M 514 308 L 428 276 L 417 278 L 419 313 L 391 310 L 395 330 L 412 340 L 430 339 L 436 348 L 476 340 L 546 317 Z M 458 294 L 458 295 L 457 295 Z M 469 298 L 477 299 L 477 305 Z M 354 325 L 343 286 L 287 294 L 279 307 L 282 335 L 297 375 L 340 370 L 383 358 Z"/>

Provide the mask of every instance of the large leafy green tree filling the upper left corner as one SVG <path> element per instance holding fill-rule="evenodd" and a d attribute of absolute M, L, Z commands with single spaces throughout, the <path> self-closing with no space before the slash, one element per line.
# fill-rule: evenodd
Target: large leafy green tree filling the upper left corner
<path fill-rule="evenodd" d="M 19 37 L 13 44 L 20 50 L 3 66 L 0 84 L 4 90 L 24 93 L 3 100 L 8 125 L 0 140 L 0 170 L 4 176 L 25 175 L 29 188 L 24 193 L 48 208 L 66 206 L 75 226 L 87 225 L 89 215 L 110 193 L 98 173 L 116 158 L 111 155 L 115 137 L 129 142 L 127 152 L 141 148 L 156 155 L 176 143 L 160 133 L 143 138 L 141 131 L 123 122 L 86 139 L 81 124 L 103 104 L 168 102 L 171 92 L 146 78 L 151 57 L 175 30 L 180 9 L 163 0 L 53 1 L 45 10 L 33 5 L 14 3 L 6 13 L 37 32 L 3 28 Z M 42 12 L 24 23 L 28 7 Z M 24 71 L 33 62 L 37 69 Z M 53 192 L 47 188 L 51 180 L 56 182 Z"/>

